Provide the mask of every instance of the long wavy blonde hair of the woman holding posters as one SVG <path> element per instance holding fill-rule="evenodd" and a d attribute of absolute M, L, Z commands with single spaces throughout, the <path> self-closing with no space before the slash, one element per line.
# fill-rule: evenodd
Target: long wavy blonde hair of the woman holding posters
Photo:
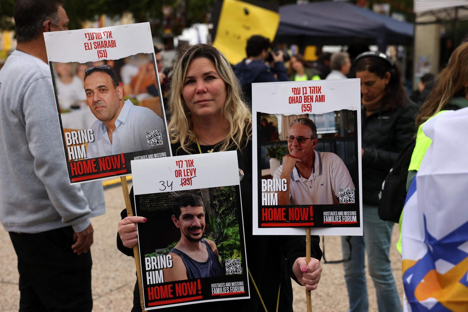
<path fill-rule="evenodd" d="M 217 144 L 221 145 L 219 150 L 226 151 L 234 146 L 236 149 L 245 148 L 252 136 L 252 114 L 242 100 L 241 85 L 226 57 L 215 47 L 205 44 L 184 46 L 174 59 L 168 96 L 171 114 L 168 127 L 171 143 L 180 142 L 181 148 L 187 153 L 194 151 L 189 148 L 189 145 L 196 141 L 192 117 L 183 100 L 182 90 L 190 63 L 198 58 L 210 59 L 226 84 L 227 97 L 221 112 L 229 128 L 226 139 Z"/>

